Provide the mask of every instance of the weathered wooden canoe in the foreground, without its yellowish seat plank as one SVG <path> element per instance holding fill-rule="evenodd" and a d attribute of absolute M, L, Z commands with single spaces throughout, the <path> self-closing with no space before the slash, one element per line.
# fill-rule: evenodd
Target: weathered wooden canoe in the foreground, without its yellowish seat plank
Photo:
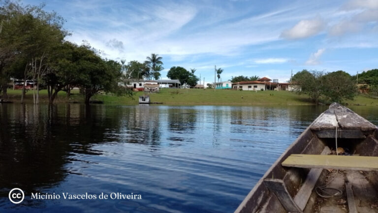
<path fill-rule="evenodd" d="M 340 107 L 340 106 L 339 106 Z M 347 108 L 346 108 L 347 109 Z M 351 116 L 353 122 L 358 123 L 357 118 L 359 115 L 355 114 L 350 109 L 343 109 L 342 115 L 339 117 L 347 117 L 347 113 L 353 113 Z M 336 110 L 335 110 L 336 111 Z M 327 112 L 327 111 L 326 111 Z M 329 112 L 329 111 L 328 111 Z M 319 122 L 320 115 L 312 125 Z M 328 115 L 326 115 L 328 116 Z M 338 137 L 338 147 L 342 147 L 347 150 L 348 153 L 360 156 L 378 156 L 378 130 L 377 127 L 370 122 L 363 123 L 364 127 L 361 128 L 361 123 L 355 125 L 344 124 L 344 129 L 341 127 L 339 119 L 335 116 L 336 124 L 334 121 L 328 122 L 325 129 L 317 125 L 312 129 L 310 125 L 299 137 L 293 142 L 281 157 L 272 165 L 272 167 L 265 173 L 265 175 L 256 183 L 252 191 L 247 195 L 244 201 L 240 204 L 235 213 L 286 213 L 281 202 L 264 184 L 264 179 L 276 178 L 282 179 L 284 185 L 287 188 L 288 193 L 292 198 L 295 197 L 297 192 L 302 186 L 302 183 L 306 180 L 310 169 L 295 168 L 295 167 L 283 167 L 281 163 L 290 154 L 320 154 L 325 146 L 328 146 L 331 150 L 336 150 L 335 135 L 332 134 L 329 138 L 324 138 L 324 135 L 319 138 L 317 133 L 322 130 L 331 131 L 334 130 L 347 130 L 347 131 L 359 131 L 360 136 L 356 138 Z M 328 119 L 328 118 L 327 118 Z M 357 121 L 356 121 L 357 119 Z M 366 120 L 365 120 L 366 121 Z M 361 122 L 365 122 L 361 120 Z M 330 125 L 329 125 L 330 124 Z M 338 125 L 339 124 L 339 125 Z M 332 125 L 338 125 L 337 128 L 333 128 Z M 342 133 L 342 132 L 341 132 Z M 349 132 L 352 133 L 352 132 Z M 343 133 L 342 133 L 343 134 Z M 329 183 L 327 187 L 340 189 L 343 194 L 341 196 L 335 196 L 331 198 L 322 198 L 315 192 L 317 186 L 322 186 L 325 183 Z M 378 172 L 377 171 L 353 171 L 353 170 L 322 170 L 320 177 L 318 178 L 314 190 L 311 192 L 310 199 L 303 212 L 349 212 L 347 203 L 346 183 L 351 183 L 353 190 L 354 201 L 356 203 L 356 210 L 360 213 L 378 213 Z M 350 202 L 350 201 L 349 201 Z M 352 212 L 352 211 L 351 211 Z"/>

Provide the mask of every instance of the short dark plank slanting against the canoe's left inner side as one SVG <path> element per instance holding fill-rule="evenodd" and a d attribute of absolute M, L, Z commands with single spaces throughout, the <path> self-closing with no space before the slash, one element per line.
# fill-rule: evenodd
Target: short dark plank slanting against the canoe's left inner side
<path fill-rule="evenodd" d="M 273 192 L 282 206 L 289 213 L 303 213 L 302 210 L 295 204 L 287 191 L 284 181 L 281 179 L 264 179 L 265 186 Z"/>

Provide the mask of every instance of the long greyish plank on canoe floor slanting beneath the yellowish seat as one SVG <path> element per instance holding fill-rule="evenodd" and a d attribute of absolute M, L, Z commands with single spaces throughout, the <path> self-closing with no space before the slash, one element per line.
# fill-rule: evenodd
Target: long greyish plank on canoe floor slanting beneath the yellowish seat
<path fill-rule="evenodd" d="M 329 149 L 329 147 L 326 146 L 324 147 L 323 151 L 320 154 L 327 155 L 330 153 L 331 153 L 331 149 Z M 298 193 L 295 195 L 294 202 L 302 211 L 305 209 L 306 204 L 317 182 L 317 179 L 319 178 L 322 171 L 323 171 L 322 169 L 311 169 L 302 187 L 299 189 Z"/>

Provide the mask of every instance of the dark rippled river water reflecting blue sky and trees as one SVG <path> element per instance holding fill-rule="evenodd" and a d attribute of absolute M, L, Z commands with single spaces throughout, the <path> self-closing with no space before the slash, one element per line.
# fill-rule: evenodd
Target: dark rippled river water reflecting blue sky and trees
<path fill-rule="evenodd" d="M 0 212 L 233 212 L 326 108 L 0 104 Z"/>

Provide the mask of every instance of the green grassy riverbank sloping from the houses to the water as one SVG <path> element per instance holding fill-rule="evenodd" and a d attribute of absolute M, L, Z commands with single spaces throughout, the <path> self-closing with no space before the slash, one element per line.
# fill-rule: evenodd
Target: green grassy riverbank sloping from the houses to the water
<path fill-rule="evenodd" d="M 67 98 L 65 92 L 60 92 L 56 103 L 78 102 L 84 103 L 84 98 L 78 90 L 73 90 Z M 8 90 L 9 100 L 19 102 L 21 90 Z M 48 103 L 47 90 L 39 92 L 40 103 Z M 105 104 L 138 104 L 138 97 L 143 92 L 136 92 L 134 99 L 117 97 L 111 94 L 98 94 L 92 100 L 103 101 Z M 236 91 L 212 89 L 162 89 L 160 93 L 149 94 L 152 102 L 161 102 L 166 105 L 312 105 L 307 95 L 298 95 L 288 91 Z M 27 103 L 32 103 L 32 90 L 27 92 Z M 378 106 L 378 99 L 359 95 L 353 101 L 346 100 L 349 105 Z"/>

